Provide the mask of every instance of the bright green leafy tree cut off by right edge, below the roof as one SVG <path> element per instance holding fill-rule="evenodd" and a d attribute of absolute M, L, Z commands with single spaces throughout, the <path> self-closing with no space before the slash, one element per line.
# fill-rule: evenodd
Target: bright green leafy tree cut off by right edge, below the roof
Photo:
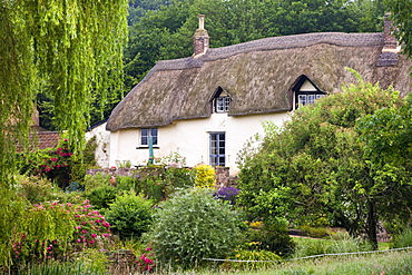
<path fill-rule="evenodd" d="M 391 209 L 383 212 L 385 219 L 406 226 L 412 219 L 411 94 L 401 108 L 384 108 L 365 116 L 357 121 L 357 128 L 371 175 L 380 187 L 375 188 L 375 196 L 385 202 L 383 207 Z"/>

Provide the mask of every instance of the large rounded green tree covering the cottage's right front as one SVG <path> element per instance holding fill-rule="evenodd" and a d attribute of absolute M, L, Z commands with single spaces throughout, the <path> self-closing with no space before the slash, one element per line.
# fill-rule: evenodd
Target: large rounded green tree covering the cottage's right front
<path fill-rule="evenodd" d="M 399 202 L 395 194 L 410 197 L 411 189 L 398 181 L 402 169 L 373 167 L 356 120 L 402 104 L 392 88 L 360 79 L 295 111 L 282 130 L 269 131 L 258 151 L 241 163 L 238 204 L 251 220 L 286 216 L 295 225 L 343 226 L 352 234 L 364 229 L 376 245 L 379 218 L 386 218 L 392 206 L 405 212 L 410 200 Z M 403 160 L 405 167 L 411 165 Z"/>

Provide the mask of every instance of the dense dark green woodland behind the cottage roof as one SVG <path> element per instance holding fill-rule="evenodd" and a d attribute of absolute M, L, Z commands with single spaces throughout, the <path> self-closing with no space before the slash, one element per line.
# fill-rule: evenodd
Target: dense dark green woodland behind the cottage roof
<path fill-rule="evenodd" d="M 129 39 L 124 51 L 124 88 L 99 91 L 90 107 L 90 125 L 112 108 L 158 61 L 189 57 L 198 14 L 205 14 L 210 48 L 266 37 L 310 32 L 382 31 L 383 0 L 130 0 Z M 38 94 L 41 126 L 53 130 L 53 104 L 47 89 Z"/>

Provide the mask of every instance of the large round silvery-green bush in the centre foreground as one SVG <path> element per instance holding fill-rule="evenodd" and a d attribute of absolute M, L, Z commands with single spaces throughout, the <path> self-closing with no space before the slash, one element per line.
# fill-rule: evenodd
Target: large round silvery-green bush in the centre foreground
<path fill-rule="evenodd" d="M 189 268 L 203 258 L 225 258 L 239 242 L 239 222 L 227 204 L 206 188 L 176 193 L 159 204 L 154 226 L 146 236 L 160 266 Z"/>

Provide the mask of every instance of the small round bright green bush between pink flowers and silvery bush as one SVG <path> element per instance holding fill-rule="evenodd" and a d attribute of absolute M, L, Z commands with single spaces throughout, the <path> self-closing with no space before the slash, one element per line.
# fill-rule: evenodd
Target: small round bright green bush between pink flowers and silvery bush
<path fill-rule="evenodd" d="M 120 239 L 140 238 L 151 224 L 151 207 L 153 202 L 145 199 L 143 195 L 125 193 L 110 204 L 105 217 Z"/>

